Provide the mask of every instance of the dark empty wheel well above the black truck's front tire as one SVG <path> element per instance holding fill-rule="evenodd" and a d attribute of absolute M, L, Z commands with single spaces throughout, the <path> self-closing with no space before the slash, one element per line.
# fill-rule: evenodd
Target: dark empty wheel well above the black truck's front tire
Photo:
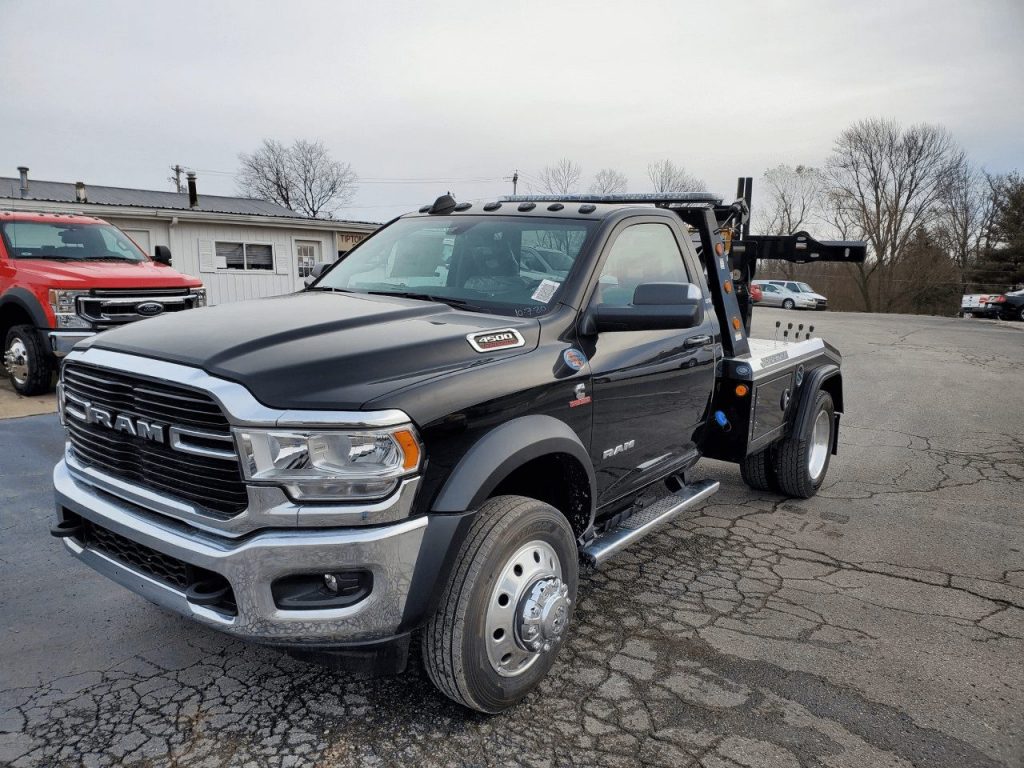
<path fill-rule="evenodd" d="M 550 504 L 565 515 L 578 538 L 590 525 L 590 481 L 583 465 L 568 454 L 541 456 L 513 470 L 498 483 L 492 497 L 505 495 Z"/>

